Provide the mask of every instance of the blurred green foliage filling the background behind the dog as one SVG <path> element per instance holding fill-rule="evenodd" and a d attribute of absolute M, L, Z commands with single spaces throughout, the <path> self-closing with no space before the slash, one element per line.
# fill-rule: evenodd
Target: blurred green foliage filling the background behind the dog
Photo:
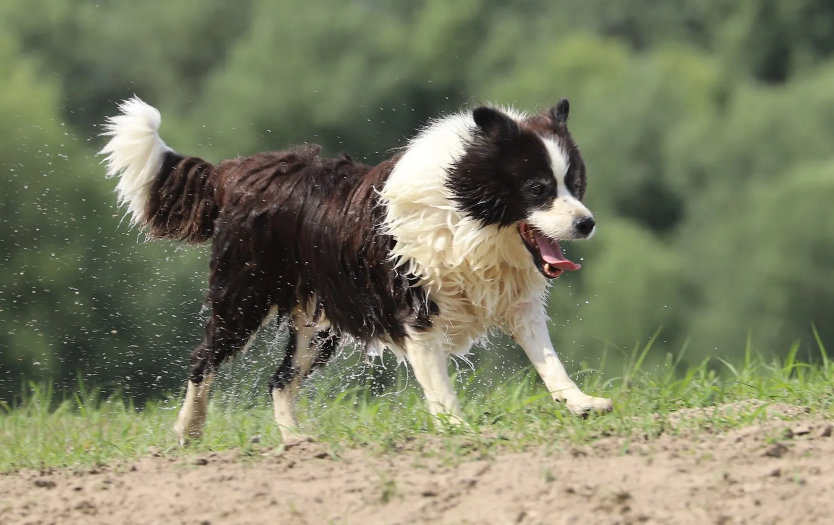
<path fill-rule="evenodd" d="M 600 223 L 551 296 L 570 368 L 661 326 L 655 358 L 733 361 L 748 334 L 811 355 L 812 324 L 834 341 L 831 28 L 824 0 L 3 0 L 0 399 L 183 383 L 206 249 L 145 243 L 94 154 L 133 93 L 210 161 L 375 162 L 442 112 L 570 97 Z"/>

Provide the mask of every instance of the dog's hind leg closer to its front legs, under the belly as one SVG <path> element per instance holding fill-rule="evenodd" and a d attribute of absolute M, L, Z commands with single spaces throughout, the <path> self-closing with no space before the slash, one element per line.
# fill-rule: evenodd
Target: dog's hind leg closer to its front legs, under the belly
<path fill-rule="evenodd" d="M 289 328 L 289 344 L 284 361 L 269 381 L 275 423 L 278 423 L 284 444 L 298 443 L 304 439 L 299 434 L 295 418 L 295 404 L 301 382 L 314 368 L 333 357 L 337 343 L 337 338 L 329 330 L 317 330 L 305 324 Z"/>

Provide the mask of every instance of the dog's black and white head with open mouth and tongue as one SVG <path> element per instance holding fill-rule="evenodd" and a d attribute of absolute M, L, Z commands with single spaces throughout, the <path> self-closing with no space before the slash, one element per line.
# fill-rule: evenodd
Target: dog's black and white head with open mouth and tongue
<path fill-rule="evenodd" d="M 569 110 L 565 98 L 529 116 L 475 108 L 475 133 L 448 182 L 461 213 L 482 226 L 518 228 L 546 278 L 580 268 L 559 241 L 590 238 L 596 229 L 582 203 L 585 163 L 568 132 Z"/>

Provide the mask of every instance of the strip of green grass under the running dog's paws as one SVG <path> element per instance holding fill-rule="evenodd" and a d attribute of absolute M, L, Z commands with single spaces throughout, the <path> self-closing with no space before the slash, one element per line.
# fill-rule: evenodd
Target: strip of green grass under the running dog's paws
<path fill-rule="evenodd" d="M 560 450 L 604 436 L 634 433 L 653 436 L 692 428 L 721 431 L 765 417 L 761 407 L 734 413 L 705 410 L 685 418 L 677 428 L 666 425 L 669 415 L 681 408 L 711 408 L 745 399 L 791 403 L 822 418 L 834 416 L 834 364 L 821 345 L 821 363 L 798 362 L 798 345 L 782 361 L 753 356 L 748 348 L 741 364 L 724 363 L 721 373 L 709 367 L 708 361 L 676 373 L 679 363 L 671 356 L 664 366 L 648 373 L 642 367 L 650 348 L 632 353 L 619 378 L 603 380 L 590 369 L 578 374 L 585 393 L 613 398 L 614 412 L 603 416 L 571 416 L 551 401 L 535 374 L 528 371 L 490 388 L 482 386 L 480 373 L 457 378 L 467 418 L 467 424 L 459 428 L 431 418 L 413 384 L 402 392 L 394 387 L 394 393 L 372 396 L 368 388 L 339 391 L 327 378 L 314 379 L 313 388 L 305 390 L 299 417 L 304 430 L 329 443 L 337 456 L 339 450 L 354 447 L 379 453 L 397 451 L 405 443 L 420 448 L 425 440 L 432 440 L 432 453 L 455 456 L 506 448 Z M 186 450 L 177 447 L 171 430 L 177 399 L 148 403 L 137 410 L 118 397 L 102 399 L 95 390 L 65 400 L 57 408 L 50 403 L 52 398 L 48 388 L 31 385 L 19 406 L 0 402 L 0 472 L 87 468 L 148 453 L 234 449 L 259 456 L 280 445 L 266 396 L 263 404 L 249 408 L 215 396 L 203 438 Z M 259 441 L 252 443 L 256 436 Z"/>

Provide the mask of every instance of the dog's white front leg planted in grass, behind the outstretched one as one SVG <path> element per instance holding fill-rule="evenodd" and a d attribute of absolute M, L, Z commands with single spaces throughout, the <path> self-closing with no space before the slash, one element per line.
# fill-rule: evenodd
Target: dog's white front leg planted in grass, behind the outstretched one
<path fill-rule="evenodd" d="M 449 377 L 449 358 L 445 348 L 421 341 L 409 340 L 405 344 L 405 355 L 414 368 L 414 377 L 423 388 L 433 416 L 445 414 L 449 422 L 461 423 L 460 402 Z"/>

